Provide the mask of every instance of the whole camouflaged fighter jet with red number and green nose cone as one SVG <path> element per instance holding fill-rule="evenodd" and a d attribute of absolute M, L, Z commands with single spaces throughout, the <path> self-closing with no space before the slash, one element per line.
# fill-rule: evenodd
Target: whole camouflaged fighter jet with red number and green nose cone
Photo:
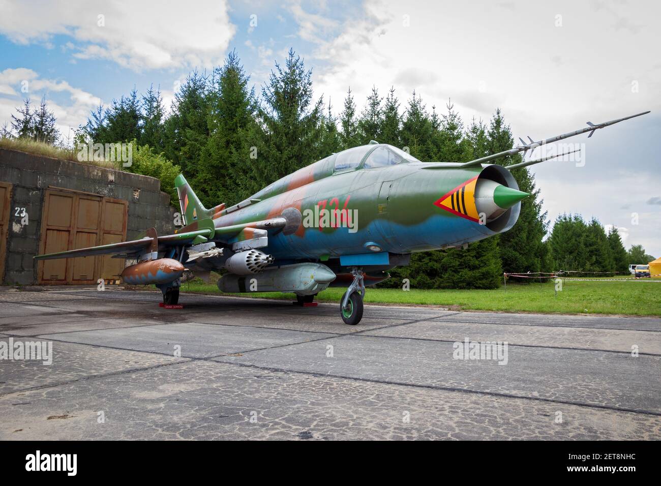
<path fill-rule="evenodd" d="M 297 304 L 313 302 L 329 286 L 346 287 L 344 323 L 363 315 L 366 286 L 407 265 L 410 255 L 463 247 L 507 231 L 521 200 L 510 171 L 560 155 L 529 159 L 536 147 L 590 132 L 648 112 L 592 124 L 525 143 L 466 163 L 422 162 L 392 145 L 369 142 L 333 153 L 273 182 L 250 198 L 205 208 L 183 175 L 175 180 L 184 226 L 171 235 L 155 229 L 134 241 L 49 255 L 37 260 L 127 255 L 122 272 L 131 284 L 154 284 L 165 304 L 177 304 L 188 268 L 225 272 L 222 292 L 293 292 Z M 490 163 L 524 152 L 524 161 Z M 570 152 L 567 152 L 570 153 Z"/>

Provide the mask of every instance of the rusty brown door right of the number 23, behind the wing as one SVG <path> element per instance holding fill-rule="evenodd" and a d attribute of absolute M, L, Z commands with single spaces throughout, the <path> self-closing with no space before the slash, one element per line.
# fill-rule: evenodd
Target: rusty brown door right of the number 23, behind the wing
<path fill-rule="evenodd" d="M 124 200 L 48 189 L 44 198 L 40 253 L 122 241 L 126 237 L 127 210 L 128 202 Z M 40 284 L 93 284 L 99 276 L 117 279 L 116 274 L 124 268 L 124 261 L 96 256 L 45 260 L 39 265 Z"/>

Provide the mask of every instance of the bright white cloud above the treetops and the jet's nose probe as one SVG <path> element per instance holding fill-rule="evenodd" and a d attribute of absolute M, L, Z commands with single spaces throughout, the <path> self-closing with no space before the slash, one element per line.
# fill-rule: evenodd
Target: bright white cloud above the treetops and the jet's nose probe
<path fill-rule="evenodd" d="M 290 9 L 299 36 L 318 46 L 306 60 L 323 61 L 315 91 L 344 99 L 350 85 L 360 101 L 373 83 L 383 93 L 395 85 L 400 99 L 415 89 L 428 108 L 451 98 L 464 120 L 499 106 L 517 136 L 541 138 L 579 128 L 574 114 L 582 124 L 661 108 L 661 4 L 594 5 L 517 2 L 513 15 L 488 2 L 366 0 L 332 36 L 326 20 Z"/>

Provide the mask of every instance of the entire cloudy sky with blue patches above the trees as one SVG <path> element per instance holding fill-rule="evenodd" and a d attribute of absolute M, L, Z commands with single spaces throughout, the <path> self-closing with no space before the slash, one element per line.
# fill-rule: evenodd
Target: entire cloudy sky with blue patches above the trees
<path fill-rule="evenodd" d="M 184 8 L 185 7 L 185 8 Z M 464 120 L 500 107 L 534 140 L 652 110 L 570 139 L 580 162 L 533 167 L 545 209 L 617 225 L 661 256 L 661 4 L 655 1 L 0 0 L 0 126 L 46 95 L 66 136 L 100 102 L 160 87 L 236 49 L 260 87 L 290 47 L 338 112 L 372 85 Z M 360 106 L 362 108 L 362 106 Z"/>

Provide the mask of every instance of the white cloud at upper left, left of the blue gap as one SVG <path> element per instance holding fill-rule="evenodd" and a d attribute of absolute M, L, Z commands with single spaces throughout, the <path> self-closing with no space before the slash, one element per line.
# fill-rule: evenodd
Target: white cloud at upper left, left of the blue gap
<path fill-rule="evenodd" d="M 13 42 L 52 47 L 53 36 L 63 34 L 72 38 L 66 47 L 77 59 L 108 59 L 136 70 L 214 65 L 236 30 L 225 0 L 187 7 L 174 0 L 0 0 L 0 11 L 0 33 Z"/>

